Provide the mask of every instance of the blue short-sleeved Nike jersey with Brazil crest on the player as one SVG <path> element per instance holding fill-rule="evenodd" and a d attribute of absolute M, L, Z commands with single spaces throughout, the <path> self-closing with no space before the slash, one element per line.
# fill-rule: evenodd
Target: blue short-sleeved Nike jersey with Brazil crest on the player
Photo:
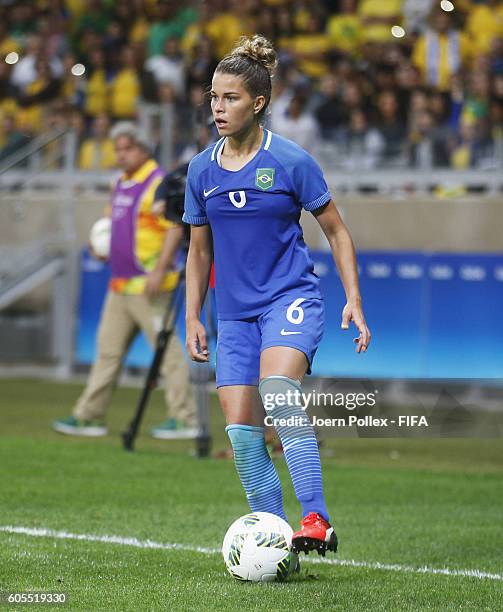
<path fill-rule="evenodd" d="M 224 142 L 191 161 L 183 216 L 192 225 L 210 224 L 218 318 L 258 316 L 292 293 L 321 298 L 299 224 L 302 208 L 330 200 L 320 167 L 295 143 L 264 130 L 253 159 L 226 170 Z"/>

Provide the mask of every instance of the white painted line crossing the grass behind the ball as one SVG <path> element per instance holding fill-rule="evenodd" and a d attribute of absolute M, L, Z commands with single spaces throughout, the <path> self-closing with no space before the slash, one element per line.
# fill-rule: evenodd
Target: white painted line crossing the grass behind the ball
<path fill-rule="evenodd" d="M 188 544 L 155 542 L 153 540 L 139 540 L 138 538 L 124 538 L 113 535 L 95 535 L 87 533 L 70 533 L 68 531 L 55 531 L 53 529 L 42 529 L 33 527 L 16 527 L 13 525 L 0 525 L 0 532 L 18 535 L 26 535 L 37 538 L 55 538 L 60 540 L 78 540 L 81 542 L 101 542 L 103 544 L 117 544 L 119 546 L 133 546 L 135 548 L 180 550 L 183 552 L 194 552 L 203 555 L 220 554 L 219 548 L 205 548 L 203 546 L 191 546 Z M 462 578 L 477 578 L 479 580 L 503 581 L 503 574 L 491 574 L 478 569 L 449 569 L 436 567 L 412 567 L 411 565 L 400 565 L 390 563 L 379 563 L 378 561 L 355 561 L 353 559 L 326 559 L 324 557 L 305 557 L 304 561 L 320 563 L 323 565 L 341 565 L 344 567 L 358 567 L 362 569 L 384 570 L 390 572 L 405 572 L 409 574 L 431 574 L 442 576 L 458 576 Z"/>

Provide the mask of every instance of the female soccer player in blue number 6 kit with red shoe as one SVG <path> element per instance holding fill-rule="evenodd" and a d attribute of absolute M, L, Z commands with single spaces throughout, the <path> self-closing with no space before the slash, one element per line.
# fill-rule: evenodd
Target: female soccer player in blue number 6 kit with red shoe
<path fill-rule="evenodd" d="M 261 125 L 276 63 L 268 40 L 242 38 L 213 76 L 211 108 L 221 138 L 191 161 L 185 194 L 184 221 L 192 226 L 187 349 L 194 361 L 208 361 L 200 311 L 213 254 L 218 395 L 249 505 L 285 518 L 281 485 L 264 441 L 265 408 L 302 505 L 292 549 L 324 555 L 337 550 L 337 538 L 323 495 L 315 433 L 299 401 L 300 382 L 310 373 L 323 333 L 324 308 L 299 225 L 302 208 L 315 215 L 330 243 L 347 296 L 342 328 L 355 323 L 358 353 L 367 350 L 370 332 L 353 242 L 318 164 Z M 289 420 L 295 425 L 285 425 L 284 417 L 295 417 Z"/>

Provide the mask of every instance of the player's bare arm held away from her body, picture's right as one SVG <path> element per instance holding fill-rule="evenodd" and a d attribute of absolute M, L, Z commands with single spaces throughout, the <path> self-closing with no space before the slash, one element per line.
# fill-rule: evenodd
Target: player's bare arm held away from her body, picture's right
<path fill-rule="evenodd" d="M 371 334 L 363 315 L 353 240 L 333 200 L 312 212 L 330 244 L 346 293 L 341 327 L 348 329 L 349 323 L 353 321 L 360 332 L 359 337 L 354 340 L 356 352 L 365 352 L 370 344 Z"/>

